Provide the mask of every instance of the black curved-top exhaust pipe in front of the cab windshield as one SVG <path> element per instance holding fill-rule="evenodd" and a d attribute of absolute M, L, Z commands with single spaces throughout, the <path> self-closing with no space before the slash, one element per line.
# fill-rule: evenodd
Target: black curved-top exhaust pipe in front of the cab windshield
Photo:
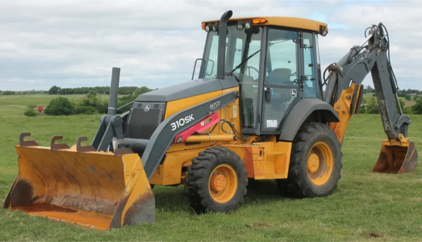
<path fill-rule="evenodd" d="M 225 12 L 218 24 L 218 55 L 217 55 L 217 79 L 224 79 L 224 69 L 226 66 L 226 37 L 227 22 L 233 16 L 233 11 Z"/>

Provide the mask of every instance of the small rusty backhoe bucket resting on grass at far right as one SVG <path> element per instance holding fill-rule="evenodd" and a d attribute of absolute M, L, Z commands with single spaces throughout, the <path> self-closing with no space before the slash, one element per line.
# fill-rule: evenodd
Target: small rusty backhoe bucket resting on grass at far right
<path fill-rule="evenodd" d="M 418 164 L 418 151 L 415 143 L 383 141 L 381 151 L 371 172 L 401 174 L 412 172 Z"/>

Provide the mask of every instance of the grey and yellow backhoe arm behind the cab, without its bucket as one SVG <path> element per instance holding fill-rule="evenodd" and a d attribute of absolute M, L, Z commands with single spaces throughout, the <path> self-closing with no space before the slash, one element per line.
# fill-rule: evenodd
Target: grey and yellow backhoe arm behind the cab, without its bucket
<path fill-rule="evenodd" d="M 369 72 L 388 139 L 398 141 L 407 137 L 410 119 L 402 113 L 396 94 L 396 78 L 388 53 L 390 45 L 387 29 L 382 23 L 372 25 L 369 29 L 369 35 L 362 44 L 351 48 L 339 62 L 327 68 L 331 72 L 324 99 L 341 116 L 339 123 L 332 123 L 340 142 L 343 142 L 348 120 L 359 109 L 363 95 L 361 83 Z M 384 29 L 387 35 L 384 34 Z M 367 42 L 368 45 L 365 46 Z M 348 110 L 344 110 L 345 108 Z M 404 137 L 400 137 L 400 134 Z"/>

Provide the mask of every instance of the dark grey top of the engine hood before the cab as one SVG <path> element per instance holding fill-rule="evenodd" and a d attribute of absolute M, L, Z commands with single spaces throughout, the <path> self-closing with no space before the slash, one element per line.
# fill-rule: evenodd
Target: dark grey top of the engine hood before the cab
<path fill-rule="evenodd" d="M 238 86 L 239 84 L 234 76 L 225 76 L 224 80 L 196 79 L 141 94 L 136 97 L 135 101 L 169 102 Z"/>

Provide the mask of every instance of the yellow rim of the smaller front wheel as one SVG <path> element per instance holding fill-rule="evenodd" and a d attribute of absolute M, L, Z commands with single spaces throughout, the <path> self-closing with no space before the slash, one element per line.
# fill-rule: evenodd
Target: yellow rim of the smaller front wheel
<path fill-rule="evenodd" d="M 209 190 L 214 201 L 228 202 L 236 194 L 236 171 L 229 165 L 219 165 L 212 170 L 208 184 L 210 184 Z"/>

